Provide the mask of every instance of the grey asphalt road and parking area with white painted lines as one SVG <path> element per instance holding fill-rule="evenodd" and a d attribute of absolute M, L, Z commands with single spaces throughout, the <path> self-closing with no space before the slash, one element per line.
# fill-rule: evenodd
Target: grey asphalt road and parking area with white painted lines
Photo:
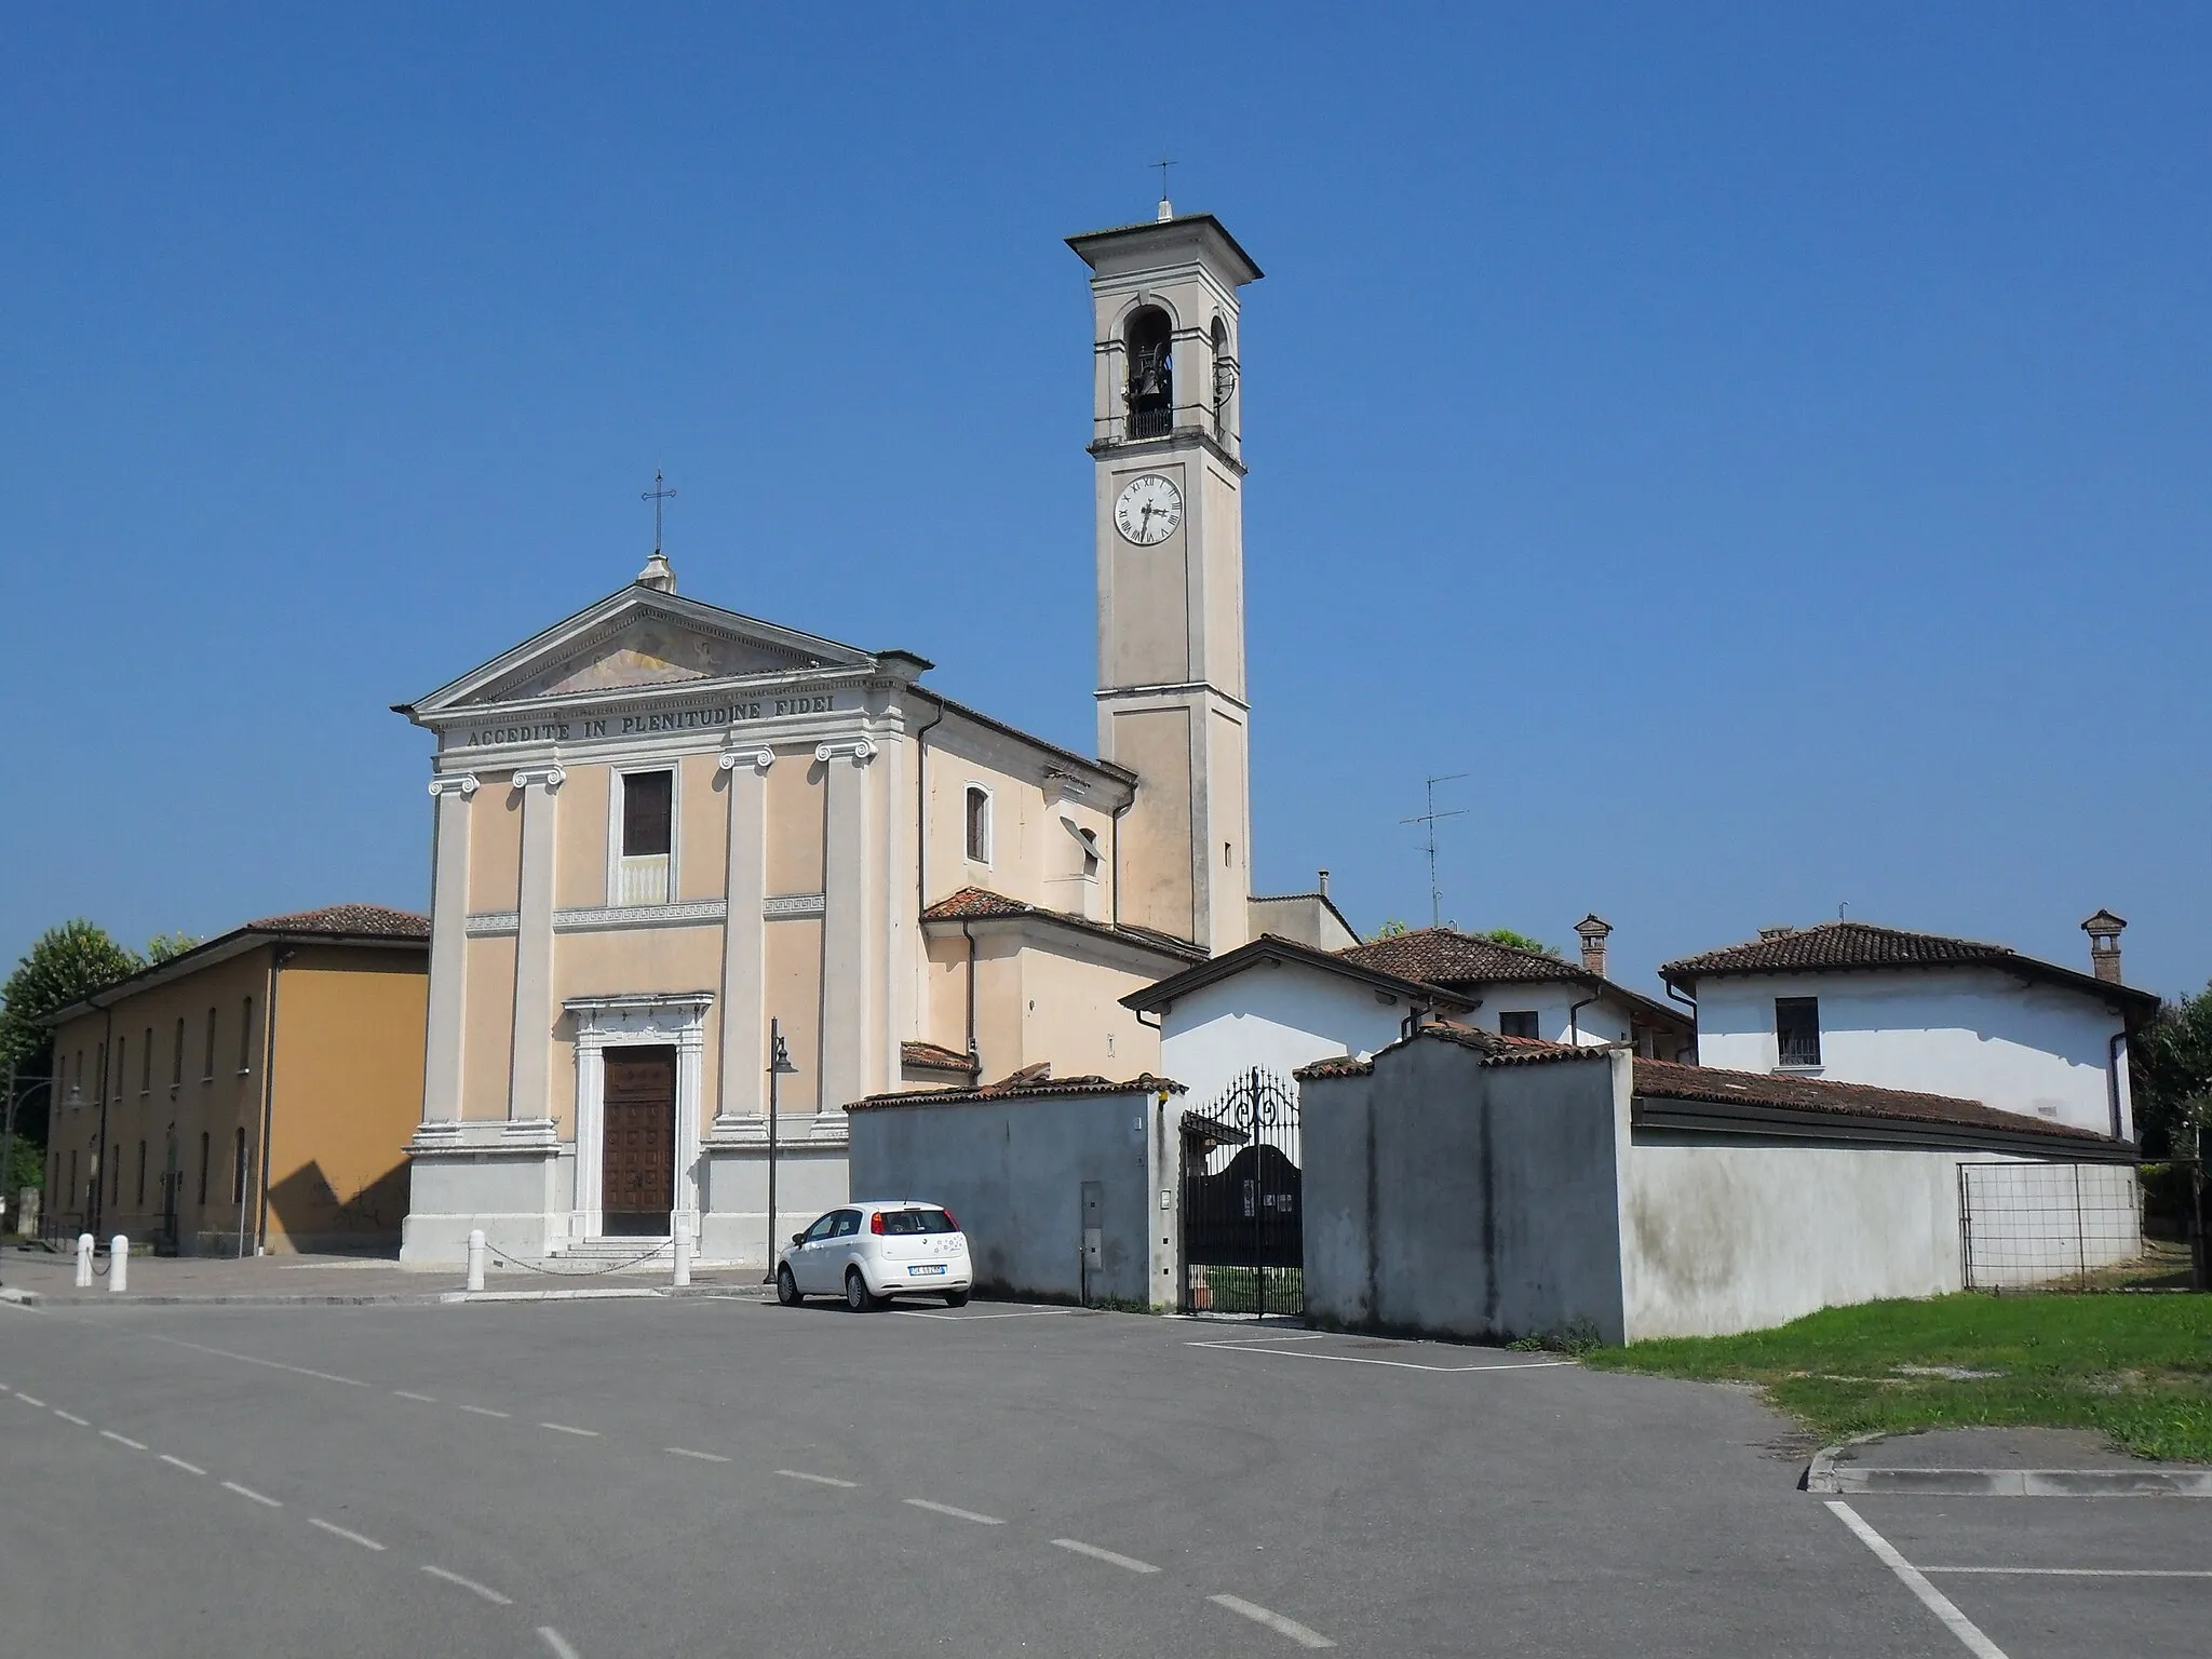
<path fill-rule="evenodd" d="M 2044 1659 L 2212 1610 L 2212 1502 L 1845 1515 L 1743 1391 L 1285 1327 L 0 1307 L 0 1387 L 24 1652 Z"/>

